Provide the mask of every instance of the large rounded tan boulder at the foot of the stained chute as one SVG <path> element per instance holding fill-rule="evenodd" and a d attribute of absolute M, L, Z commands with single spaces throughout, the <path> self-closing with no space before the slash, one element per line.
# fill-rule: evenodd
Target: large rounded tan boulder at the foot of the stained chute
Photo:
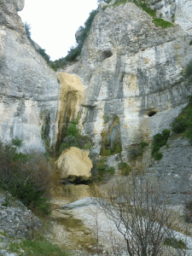
<path fill-rule="evenodd" d="M 88 180 L 91 176 L 92 162 L 89 158 L 90 150 L 80 148 L 67 148 L 62 152 L 56 165 L 61 169 L 61 178 L 70 177 Z"/>

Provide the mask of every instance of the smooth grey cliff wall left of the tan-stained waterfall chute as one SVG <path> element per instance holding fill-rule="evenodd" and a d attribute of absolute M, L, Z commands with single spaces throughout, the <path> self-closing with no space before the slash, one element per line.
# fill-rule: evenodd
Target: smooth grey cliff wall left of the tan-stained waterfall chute
<path fill-rule="evenodd" d="M 0 138 L 23 140 L 21 150 L 44 152 L 44 139 L 55 144 L 60 84 L 55 72 L 26 38 L 17 11 L 24 1 L 1 1 Z M 43 134 L 42 134 L 43 133 Z"/>

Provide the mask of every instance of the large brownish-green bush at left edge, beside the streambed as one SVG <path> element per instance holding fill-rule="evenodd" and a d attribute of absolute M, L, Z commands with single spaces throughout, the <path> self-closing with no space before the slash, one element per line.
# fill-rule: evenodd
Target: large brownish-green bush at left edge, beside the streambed
<path fill-rule="evenodd" d="M 0 188 L 8 190 L 33 212 L 49 214 L 54 166 L 43 155 L 18 154 L 15 150 L 0 145 Z"/>

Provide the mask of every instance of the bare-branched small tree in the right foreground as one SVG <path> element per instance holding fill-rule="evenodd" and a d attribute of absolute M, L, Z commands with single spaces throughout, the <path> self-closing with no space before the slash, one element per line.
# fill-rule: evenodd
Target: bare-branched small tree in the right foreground
<path fill-rule="evenodd" d="M 160 183 L 132 177 L 108 185 L 100 207 L 124 236 L 128 255 L 159 256 L 167 237 L 174 238 L 172 207 Z M 178 253 L 178 255 L 184 255 Z"/>

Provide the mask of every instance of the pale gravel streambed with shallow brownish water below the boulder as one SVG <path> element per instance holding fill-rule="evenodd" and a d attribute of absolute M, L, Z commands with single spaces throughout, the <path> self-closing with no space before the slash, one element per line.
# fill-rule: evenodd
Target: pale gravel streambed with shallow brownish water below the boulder
<path fill-rule="evenodd" d="M 65 188 L 66 189 L 66 188 Z M 70 193 L 53 200 L 52 213 L 53 232 L 51 241 L 60 247 L 67 247 L 73 255 L 127 255 L 125 241 L 102 210 L 96 206 L 96 201 L 90 198 L 90 188 L 86 185 L 68 188 Z M 82 192 L 82 195 L 81 195 Z M 65 190 L 66 193 L 66 190 Z M 175 227 L 178 239 L 187 241 L 188 255 L 192 255 L 191 225 L 187 237 L 181 208 L 176 208 L 178 224 Z M 165 255 L 173 253 L 172 247 L 167 247 Z"/>

